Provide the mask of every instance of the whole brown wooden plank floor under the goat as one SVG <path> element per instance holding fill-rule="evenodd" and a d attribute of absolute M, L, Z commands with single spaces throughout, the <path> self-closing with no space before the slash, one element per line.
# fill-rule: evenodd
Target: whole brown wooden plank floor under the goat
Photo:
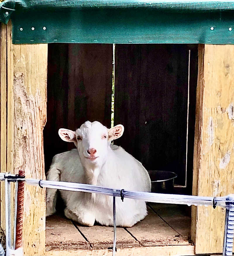
<path fill-rule="evenodd" d="M 149 204 L 146 218 L 117 228 L 116 248 L 190 245 L 190 217 L 174 204 Z M 46 250 L 103 250 L 113 246 L 113 227 L 81 226 L 56 214 L 46 220 Z"/>

